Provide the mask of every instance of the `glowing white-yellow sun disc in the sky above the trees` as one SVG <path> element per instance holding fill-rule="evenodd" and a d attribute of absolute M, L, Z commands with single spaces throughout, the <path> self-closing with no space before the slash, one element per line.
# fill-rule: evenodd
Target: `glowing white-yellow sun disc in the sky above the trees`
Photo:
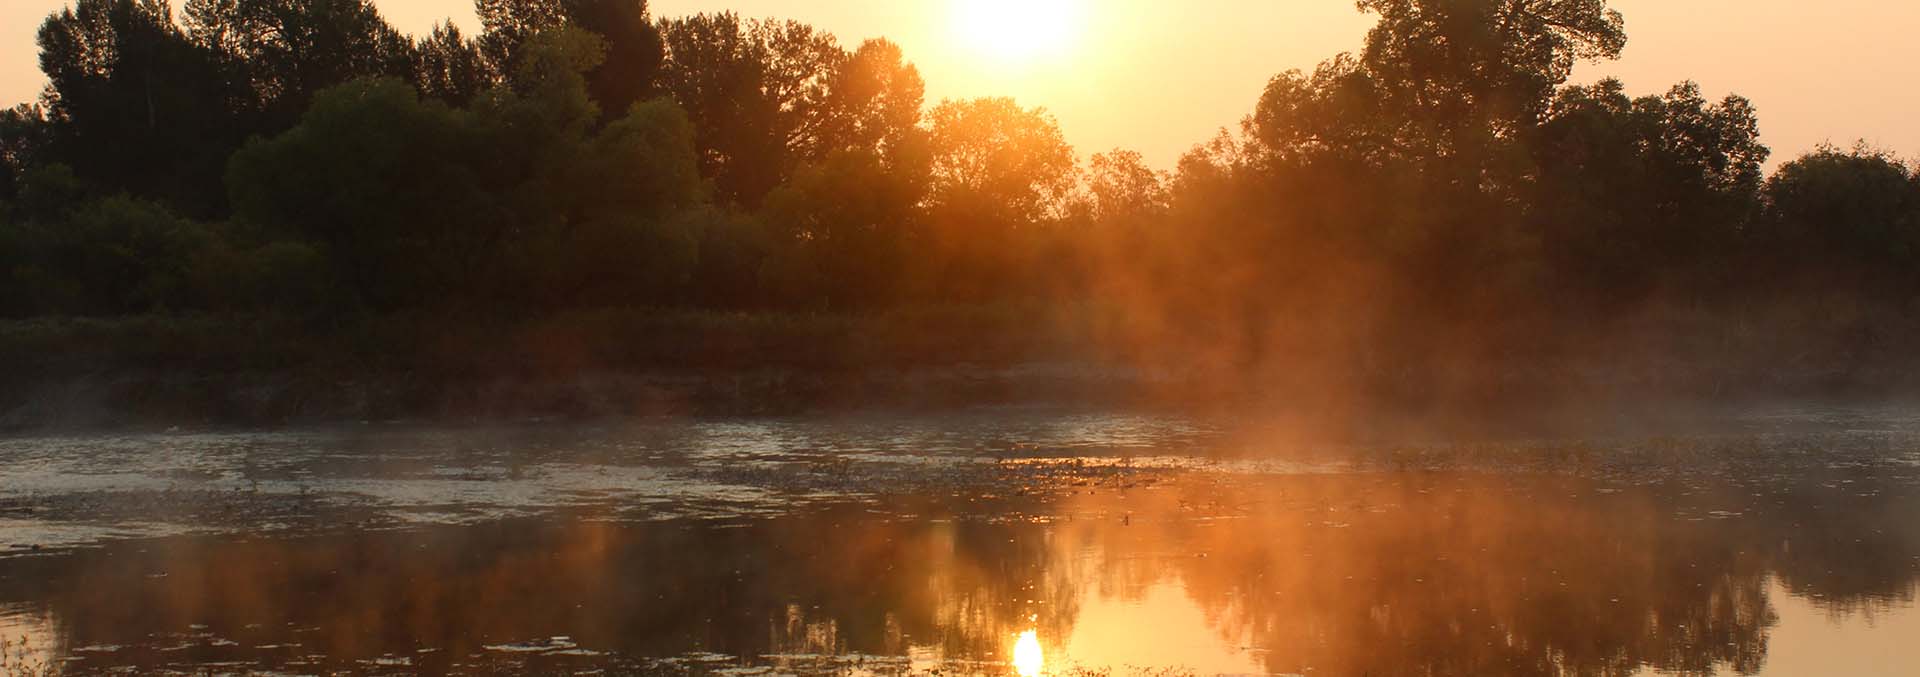
<path fill-rule="evenodd" d="M 948 0 L 954 36 L 1008 63 L 1058 59 L 1079 42 L 1085 0 Z"/>

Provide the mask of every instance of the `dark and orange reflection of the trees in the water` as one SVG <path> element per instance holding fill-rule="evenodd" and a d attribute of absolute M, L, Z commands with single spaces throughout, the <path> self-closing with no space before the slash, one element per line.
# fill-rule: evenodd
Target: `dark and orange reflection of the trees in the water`
<path fill-rule="evenodd" d="M 1740 514 L 1715 512 L 1732 502 Z M 1106 625 L 1083 612 L 1152 598 L 1206 625 L 1210 644 L 1179 646 L 1187 665 L 1235 654 L 1275 673 L 1630 675 L 1759 671 L 1770 591 L 1836 614 L 1910 614 L 1920 577 L 1920 527 L 1903 520 L 1920 501 L 1897 481 L 1192 474 L 1073 487 L 1016 512 L 972 504 L 177 537 L 0 562 L 0 602 L 46 610 L 67 654 L 129 646 L 84 654 L 92 667 L 300 656 L 409 656 L 420 671 L 472 656 L 659 667 L 647 658 L 689 652 L 1021 673 L 1031 652 L 1052 671 L 1117 667 L 1121 642 L 1156 629 L 1100 637 Z M 1169 585 L 1183 595 L 1154 593 Z M 501 650 L 513 644 L 526 652 Z M 563 646 L 580 650 L 547 650 Z"/>

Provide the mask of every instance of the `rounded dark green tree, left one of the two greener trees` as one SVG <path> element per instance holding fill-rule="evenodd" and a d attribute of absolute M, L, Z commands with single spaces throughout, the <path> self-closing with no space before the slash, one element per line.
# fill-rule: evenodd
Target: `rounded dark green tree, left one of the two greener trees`
<path fill-rule="evenodd" d="M 234 153 L 234 213 L 319 244 L 357 305 L 444 299 L 480 272 L 476 249 L 501 222 L 468 130 L 397 79 L 323 90 L 292 130 Z"/>

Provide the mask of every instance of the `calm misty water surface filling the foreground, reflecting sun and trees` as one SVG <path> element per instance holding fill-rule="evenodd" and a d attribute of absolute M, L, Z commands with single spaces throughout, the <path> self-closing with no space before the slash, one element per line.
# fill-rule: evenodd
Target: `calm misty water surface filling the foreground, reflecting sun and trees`
<path fill-rule="evenodd" d="M 0 439 L 0 675 L 1920 673 L 1905 409 L 1296 439 L 1033 410 Z"/>

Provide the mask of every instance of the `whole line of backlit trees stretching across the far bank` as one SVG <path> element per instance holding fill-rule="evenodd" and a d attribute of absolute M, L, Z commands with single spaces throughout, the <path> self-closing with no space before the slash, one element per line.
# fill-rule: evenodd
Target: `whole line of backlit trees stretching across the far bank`
<path fill-rule="evenodd" d="M 411 38 L 369 0 L 79 0 L 0 115 L 0 315 L 1087 301 L 1306 351 L 1914 311 L 1912 163 L 1768 175 L 1740 96 L 1571 84 L 1626 46 L 1603 0 L 1357 6 L 1359 52 L 1156 171 L 795 21 L 478 0 L 478 36 Z"/>

